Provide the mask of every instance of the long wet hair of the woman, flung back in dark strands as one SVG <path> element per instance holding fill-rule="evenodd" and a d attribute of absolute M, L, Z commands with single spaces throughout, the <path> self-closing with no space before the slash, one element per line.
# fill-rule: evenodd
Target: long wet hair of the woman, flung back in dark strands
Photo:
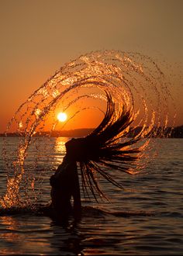
<path fill-rule="evenodd" d="M 139 138 L 129 138 L 129 125 L 133 123 L 133 112 L 124 106 L 116 118 L 115 103 L 111 95 L 106 93 L 107 109 L 99 126 L 87 137 L 72 139 L 67 142 L 66 157 L 77 161 L 81 170 L 81 186 L 84 196 L 89 196 L 89 190 L 97 200 L 96 195 L 105 197 L 98 185 L 96 175 L 116 185 L 123 186 L 112 178 L 114 170 L 131 174 L 130 169 L 138 160 L 139 148 L 132 148 Z"/>

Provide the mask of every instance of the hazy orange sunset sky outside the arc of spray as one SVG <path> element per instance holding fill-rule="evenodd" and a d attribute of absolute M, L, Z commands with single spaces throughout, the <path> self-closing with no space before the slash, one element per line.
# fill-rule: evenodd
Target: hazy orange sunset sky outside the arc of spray
<path fill-rule="evenodd" d="M 183 1 L 7 0 L 0 7 L 1 133 L 19 105 L 60 66 L 105 49 L 138 51 L 171 64 L 175 125 L 183 124 Z"/>

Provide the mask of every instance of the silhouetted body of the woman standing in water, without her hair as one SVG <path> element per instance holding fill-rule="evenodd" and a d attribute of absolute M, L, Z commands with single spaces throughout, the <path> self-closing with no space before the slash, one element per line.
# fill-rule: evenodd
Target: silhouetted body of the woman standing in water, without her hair
<path fill-rule="evenodd" d="M 81 195 L 78 180 L 77 161 L 70 153 L 70 144 L 72 140 L 66 143 L 67 154 L 62 164 L 50 178 L 51 189 L 51 207 L 54 216 L 61 219 L 67 219 L 71 214 L 78 219 L 81 216 Z M 73 206 L 71 206 L 71 197 L 73 197 Z"/>

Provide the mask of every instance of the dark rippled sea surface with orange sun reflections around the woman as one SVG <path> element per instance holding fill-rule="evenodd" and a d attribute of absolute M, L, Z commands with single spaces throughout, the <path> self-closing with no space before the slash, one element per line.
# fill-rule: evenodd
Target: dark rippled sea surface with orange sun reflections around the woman
<path fill-rule="evenodd" d="M 9 137 L 12 147 L 16 137 Z M 89 202 L 81 221 L 66 226 L 32 212 L 0 214 L 0 254 L 39 255 L 181 255 L 183 252 L 183 140 L 154 139 L 158 154 L 138 175 L 118 174 L 124 191 L 102 181 L 110 202 Z M 67 138 L 51 138 L 54 161 L 40 185 L 40 202 L 50 200 L 49 177 L 64 156 Z M 2 147 L 2 138 L 0 138 Z M 53 147 L 55 145 L 55 147 Z M 55 148 L 57 150 L 55 150 Z M 54 151 L 51 151 L 54 150 Z M 32 150 L 29 158 L 35 156 Z M 31 158 L 32 157 L 32 158 Z M 5 166 L 0 159 L 0 195 L 5 193 Z M 119 214 L 110 214 L 119 213 Z M 1 213 L 1 209 L 0 209 Z M 122 214 L 124 213 L 124 214 Z"/>

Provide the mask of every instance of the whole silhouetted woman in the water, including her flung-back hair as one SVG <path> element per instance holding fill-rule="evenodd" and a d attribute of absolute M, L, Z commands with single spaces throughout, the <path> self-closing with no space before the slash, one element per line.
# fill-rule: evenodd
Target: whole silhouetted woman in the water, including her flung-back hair
<path fill-rule="evenodd" d="M 105 195 L 99 188 L 96 174 L 102 175 L 108 182 L 122 188 L 122 185 L 112 178 L 112 170 L 130 173 L 129 168 L 138 159 L 137 153 L 140 149 L 132 148 L 131 145 L 140 138 L 128 138 L 128 129 L 126 129 L 133 122 L 133 114 L 123 107 L 116 118 L 115 103 L 112 102 L 111 95 L 105 93 L 107 109 L 102 123 L 87 137 L 72 139 L 65 144 L 64 161 L 50 178 L 51 207 L 54 216 L 58 218 L 67 219 L 70 214 L 75 218 L 81 216 L 77 163 L 80 166 L 84 195 L 89 197 L 93 195 L 98 201 L 97 194 L 101 197 Z M 71 197 L 74 199 L 73 206 L 71 206 Z"/>

